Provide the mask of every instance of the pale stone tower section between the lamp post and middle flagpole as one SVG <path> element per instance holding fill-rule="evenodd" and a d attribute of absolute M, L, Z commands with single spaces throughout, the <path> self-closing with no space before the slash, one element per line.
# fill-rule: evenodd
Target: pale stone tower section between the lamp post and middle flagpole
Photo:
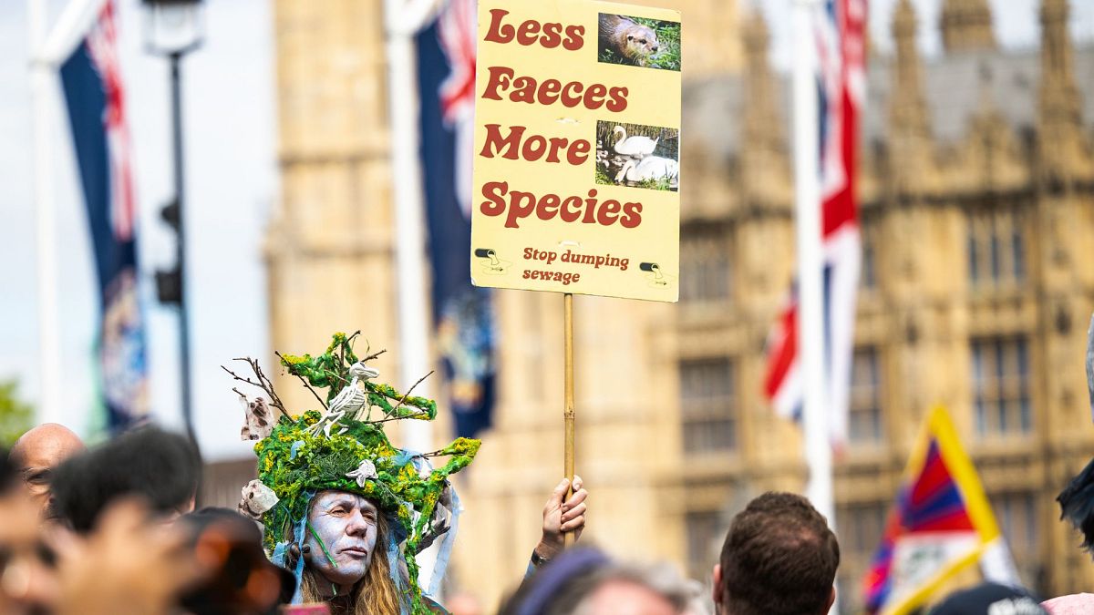
<path fill-rule="evenodd" d="M 275 3 L 282 198 L 265 253 L 275 349 L 360 328 L 397 365 L 381 8 Z M 290 379 L 286 403 L 314 404 Z"/>

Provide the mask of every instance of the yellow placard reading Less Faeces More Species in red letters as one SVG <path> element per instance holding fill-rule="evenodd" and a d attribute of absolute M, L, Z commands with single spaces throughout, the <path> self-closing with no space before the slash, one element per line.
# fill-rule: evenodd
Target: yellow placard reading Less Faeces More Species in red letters
<path fill-rule="evenodd" d="M 679 12 L 480 0 L 472 281 L 679 295 Z"/>

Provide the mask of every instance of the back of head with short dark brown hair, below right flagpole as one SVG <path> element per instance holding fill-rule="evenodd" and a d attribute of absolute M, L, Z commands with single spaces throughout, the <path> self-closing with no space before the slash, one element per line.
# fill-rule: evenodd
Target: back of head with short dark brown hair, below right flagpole
<path fill-rule="evenodd" d="M 722 545 L 722 604 L 732 615 L 822 615 L 839 544 L 805 498 L 767 492 L 733 519 Z"/>

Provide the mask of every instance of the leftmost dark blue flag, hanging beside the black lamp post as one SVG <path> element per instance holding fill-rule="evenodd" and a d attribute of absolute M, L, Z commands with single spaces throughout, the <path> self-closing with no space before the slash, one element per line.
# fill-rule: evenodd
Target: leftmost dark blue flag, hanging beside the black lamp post
<path fill-rule="evenodd" d="M 61 65 L 98 280 L 98 387 L 110 430 L 148 414 L 144 322 L 138 292 L 137 204 L 114 2 Z"/>

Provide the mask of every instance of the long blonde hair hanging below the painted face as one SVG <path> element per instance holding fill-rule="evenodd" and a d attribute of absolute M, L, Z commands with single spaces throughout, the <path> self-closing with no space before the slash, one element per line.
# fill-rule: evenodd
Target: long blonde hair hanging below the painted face
<path fill-rule="evenodd" d="M 372 562 L 369 564 L 364 578 L 350 590 L 349 597 L 346 599 L 349 608 L 342 612 L 345 615 L 399 615 L 400 613 L 399 592 L 392 580 L 392 562 L 387 560 L 387 517 L 383 512 L 376 515 L 376 547 L 372 554 Z M 305 603 L 330 601 L 319 593 L 315 572 L 309 566 L 304 567 L 304 573 L 300 579 L 300 593 Z M 331 612 L 338 614 L 336 606 L 331 604 Z"/>

